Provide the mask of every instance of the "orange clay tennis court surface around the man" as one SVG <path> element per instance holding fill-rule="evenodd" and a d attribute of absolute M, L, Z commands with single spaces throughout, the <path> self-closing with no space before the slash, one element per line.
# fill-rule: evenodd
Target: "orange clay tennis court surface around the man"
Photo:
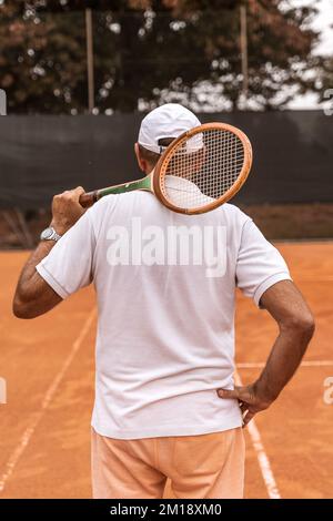
<path fill-rule="evenodd" d="M 246 498 L 330 498 L 333 490 L 333 243 L 278 244 L 316 317 L 302 367 L 279 401 L 246 429 Z M 32 321 L 11 315 L 26 252 L 0 254 L 0 498 L 89 498 L 90 413 L 93 400 L 93 289 L 74 295 Z M 117 303 L 115 303 L 117 305 Z M 236 359 L 252 381 L 276 326 L 240 297 Z"/>

